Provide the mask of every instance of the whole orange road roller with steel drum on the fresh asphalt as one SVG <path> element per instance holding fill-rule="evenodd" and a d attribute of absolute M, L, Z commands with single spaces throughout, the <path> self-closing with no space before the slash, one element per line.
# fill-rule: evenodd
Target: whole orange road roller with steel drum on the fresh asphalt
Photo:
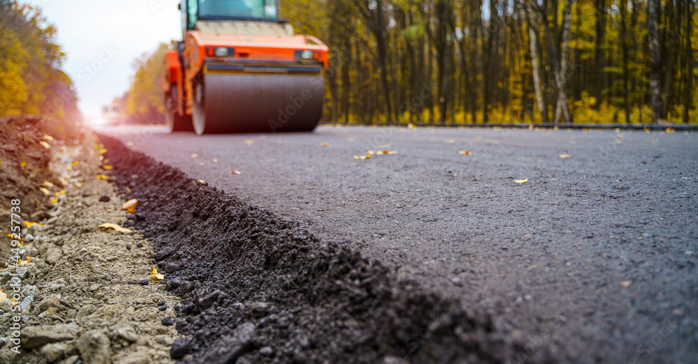
<path fill-rule="evenodd" d="M 329 50 L 279 20 L 276 0 L 185 0 L 166 57 L 172 131 L 311 131 L 325 100 Z"/>

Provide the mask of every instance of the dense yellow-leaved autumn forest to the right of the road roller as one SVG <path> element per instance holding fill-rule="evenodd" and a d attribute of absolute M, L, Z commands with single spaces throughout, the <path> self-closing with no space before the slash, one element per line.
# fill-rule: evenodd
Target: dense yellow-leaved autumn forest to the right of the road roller
<path fill-rule="evenodd" d="M 696 122 L 695 0 L 285 1 L 329 121 Z"/>

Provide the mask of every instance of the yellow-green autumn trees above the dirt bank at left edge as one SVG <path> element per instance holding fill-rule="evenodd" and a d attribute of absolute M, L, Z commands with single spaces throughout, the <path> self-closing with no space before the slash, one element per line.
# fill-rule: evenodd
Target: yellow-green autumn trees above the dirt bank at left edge
<path fill-rule="evenodd" d="M 56 29 L 40 8 L 0 0 L 0 116 L 46 114 L 79 120 Z"/>

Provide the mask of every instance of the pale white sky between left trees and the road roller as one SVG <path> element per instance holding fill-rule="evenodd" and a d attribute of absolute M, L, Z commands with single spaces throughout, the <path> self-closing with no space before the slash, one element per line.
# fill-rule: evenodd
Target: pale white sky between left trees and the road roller
<path fill-rule="evenodd" d="M 43 8 L 67 55 L 64 70 L 77 86 L 86 118 L 120 96 L 133 61 L 161 42 L 181 38 L 179 0 L 24 0 Z"/>

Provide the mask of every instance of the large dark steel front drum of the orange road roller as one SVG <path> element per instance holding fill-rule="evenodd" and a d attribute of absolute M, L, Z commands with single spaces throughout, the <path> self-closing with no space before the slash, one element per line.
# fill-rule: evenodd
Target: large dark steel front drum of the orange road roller
<path fill-rule="evenodd" d="M 310 132 L 325 100 L 322 75 L 208 73 L 193 84 L 198 135 Z"/>

